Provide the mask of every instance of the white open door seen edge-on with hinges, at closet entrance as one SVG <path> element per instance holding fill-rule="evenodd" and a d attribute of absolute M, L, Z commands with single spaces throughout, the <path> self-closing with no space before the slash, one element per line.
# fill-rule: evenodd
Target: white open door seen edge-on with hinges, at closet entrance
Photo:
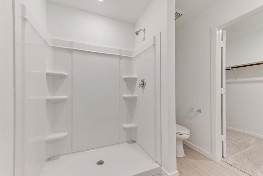
<path fill-rule="evenodd" d="M 221 30 L 221 116 L 222 116 L 222 156 L 226 158 L 226 30 Z"/>

